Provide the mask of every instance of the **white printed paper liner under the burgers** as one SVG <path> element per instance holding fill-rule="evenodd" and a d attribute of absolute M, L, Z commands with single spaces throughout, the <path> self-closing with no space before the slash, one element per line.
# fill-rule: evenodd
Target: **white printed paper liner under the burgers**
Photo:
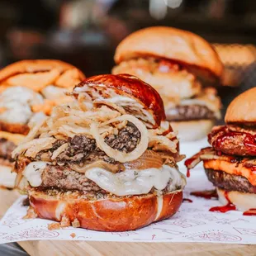
<path fill-rule="evenodd" d="M 38 239 L 114 241 L 114 242 L 199 242 L 226 244 L 256 244 L 256 217 L 243 216 L 239 211 L 217 213 L 209 211 L 219 201 L 189 196 L 191 191 L 211 189 L 211 183 L 201 168 L 191 172 L 184 192 L 192 203 L 183 202 L 172 218 L 130 232 L 98 232 L 75 229 L 48 230 L 50 220 L 23 220 L 26 207 L 20 197 L 0 222 L 0 244 Z M 74 237 L 72 237 L 75 235 Z"/>

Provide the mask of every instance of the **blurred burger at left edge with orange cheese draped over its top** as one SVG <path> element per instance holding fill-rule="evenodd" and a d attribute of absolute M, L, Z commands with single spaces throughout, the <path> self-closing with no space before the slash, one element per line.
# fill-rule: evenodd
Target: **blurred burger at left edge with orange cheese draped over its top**
<path fill-rule="evenodd" d="M 70 100 L 64 92 L 83 78 L 72 65 L 51 59 L 23 60 L 0 70 L 0 187 L 14 186 L 12 150 L 31 124 Z"/>

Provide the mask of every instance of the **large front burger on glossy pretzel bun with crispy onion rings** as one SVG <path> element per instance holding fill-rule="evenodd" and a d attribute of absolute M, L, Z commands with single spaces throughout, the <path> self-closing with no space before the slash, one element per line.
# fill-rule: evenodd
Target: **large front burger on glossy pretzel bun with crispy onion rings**
<path fill-rule="evenodd" d="M 12 153 L 27 217 L 135 230 L 178 211 L 186 183 L 159 93 L 127 74 L 87 78 Z"/>

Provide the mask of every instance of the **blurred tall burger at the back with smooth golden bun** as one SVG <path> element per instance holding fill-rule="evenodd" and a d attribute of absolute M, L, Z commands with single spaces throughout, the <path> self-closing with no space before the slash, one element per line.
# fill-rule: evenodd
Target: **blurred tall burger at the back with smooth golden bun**
<path fill-rule="evenodd" d="M 199 140 L 220 118 L 223 66 L 211 45 L 189 31 L 154 26 L 135 31 L 116 48 L 112 73 L 130 73 L 153 86 L 181 140 Z M 192 132 L 191 132 L 192 131 Z"/>

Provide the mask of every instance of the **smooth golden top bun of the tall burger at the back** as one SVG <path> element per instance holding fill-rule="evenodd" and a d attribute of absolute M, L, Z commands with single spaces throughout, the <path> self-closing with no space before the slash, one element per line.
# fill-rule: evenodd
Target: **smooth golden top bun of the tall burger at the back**
<path fill-rule="evenodd" d="M 116 64 L 120 64 L 143 56 L 171 59 L 184 64 L 209 83 L 220 83 L 223 73 L 219 56 L 206 40 L 173 27 L 152 26 L 135 31 L 117 46 L 114 59 Z"/>

